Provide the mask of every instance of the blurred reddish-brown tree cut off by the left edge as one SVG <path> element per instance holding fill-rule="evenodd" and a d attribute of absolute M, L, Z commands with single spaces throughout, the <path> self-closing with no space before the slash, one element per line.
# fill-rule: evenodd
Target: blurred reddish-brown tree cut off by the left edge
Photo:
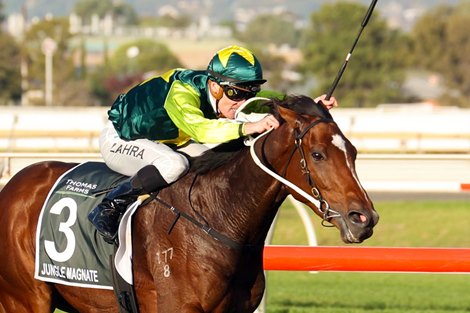
<path fill-rule="evenodd" d="M 16 41 L 0 31 L 0 105 L 21 97 L 20 48 Z"/>

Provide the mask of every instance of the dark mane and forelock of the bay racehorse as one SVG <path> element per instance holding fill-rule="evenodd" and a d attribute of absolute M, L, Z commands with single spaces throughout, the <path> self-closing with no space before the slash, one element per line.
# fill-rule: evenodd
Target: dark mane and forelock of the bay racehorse
<path fill-rule="evenodd" d="M 281 123 L 282 118 L 276 108 L 282 106 L 301 115 L 318 116 L 326 119 L 333 119 L 328 109 L 316 103 L 307 96 L 287 96 L 283 99 L 274 99 L 267 101 L 264 105 L 268 106 L 269 112 L 273 114 Z M 239 138 L 227 143 L 223 143 L 211 150 L 204 152 L 201 156 L 190 157 L 190 171 L 196 174 L 204 174 L 223 164 L 230 162 L 245 147 L 243 138 Z"/>

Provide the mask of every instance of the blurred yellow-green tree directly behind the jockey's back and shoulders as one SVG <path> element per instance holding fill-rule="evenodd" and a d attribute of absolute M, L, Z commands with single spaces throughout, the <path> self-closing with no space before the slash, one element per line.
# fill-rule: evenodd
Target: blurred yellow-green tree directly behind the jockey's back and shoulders
<path fill-rule="evenodd" d="M 150 39 L 128 42 L 118 47 L 108 64 L 92 75 L 92 92 L 102 105 L 110 105 L 120 93 L 145 77 L 181 66 L 178 58 L 162 43 Z"/>

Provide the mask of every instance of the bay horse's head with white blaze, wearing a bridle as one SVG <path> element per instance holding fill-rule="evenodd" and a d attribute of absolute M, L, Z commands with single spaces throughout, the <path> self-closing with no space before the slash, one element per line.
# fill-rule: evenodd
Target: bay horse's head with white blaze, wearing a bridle
<path fill-rule="evenodd" d="M 283 122 L 265 149 L 276 155 L 270 160 L 275 171 L 295 185 L 287 186 L 289 192 L 323 224 L 336 226 L 344 242 L 369 238 L 379 216 L 359 182 L 357 151 L 329 112 L 307 97 L 289 97 L 275 104 L 275 112 Z"/>

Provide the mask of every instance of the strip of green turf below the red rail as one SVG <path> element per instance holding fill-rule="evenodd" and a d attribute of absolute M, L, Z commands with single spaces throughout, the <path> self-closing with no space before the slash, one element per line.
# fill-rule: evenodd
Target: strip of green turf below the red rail
<path fill-rule="evenodd" d="M 469 312 L 467 275 L 269 272 L 267 312 Z"/>

